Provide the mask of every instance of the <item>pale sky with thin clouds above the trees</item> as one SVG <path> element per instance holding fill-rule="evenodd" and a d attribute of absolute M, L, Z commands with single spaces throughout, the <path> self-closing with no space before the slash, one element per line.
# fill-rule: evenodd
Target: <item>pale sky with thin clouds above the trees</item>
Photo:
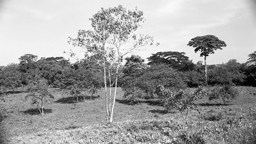
<path fill-rule="evenodd" d="M 194 47 L 197 36 L 215 35 L 226 47 L 207 57 L 207 64 L 237 59 L 243 63 L 256 51 L 255 0 L 0 0 L 0 65 L 18 63 L 25 54 L 70 58 L 63 51 L 83 52 L 68 43 L 78 30 L 90 30 L 91 18 L 100 8 L 122 5 L 143 11 L 141 34 L 154 36 L 159 46 L 135 53 L 143 59 L 157 52 L 185 52 L 194 63 L 204 61 Z M 71 62 L 76 59 L 70 58 Z"/>

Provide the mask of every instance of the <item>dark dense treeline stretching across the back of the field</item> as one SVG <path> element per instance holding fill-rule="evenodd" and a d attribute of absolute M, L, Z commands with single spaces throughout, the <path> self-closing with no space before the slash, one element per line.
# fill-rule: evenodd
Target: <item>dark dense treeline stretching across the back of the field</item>
<path fill-rule="evenodd" d="M 246 63 L 231 59 L 227 63 L 207 65 L 208 85 L 256 86 L 256 62 L 249 55 Z M 148 63 L 140 56 L 125 58 L 126 63 L 120 67 L 118 86 L 163 84 L 167 87 L 198 87 L 204 85 L 204 65 L 202 61 L 193 63 L 182 52 L 158 52 L 147 58 Z M 15 91 L 17 87 L 44 79 L 47 84 L 62 89 L 92 89 L 104 85 L 103 67 L 82 59 L 70 63 L 63 57 L 37 59 L 37 56 L 26 54 L 19 58 L 18 64 L 0 67 L 0 85 L 2 91 Z M 114 69 L 112 69 L 114 70 Z M 113 77 L 113 76 L 109 76 Z M 146 84 L 148 83 L 148 84 Z M 150 84 L 151 83 L 151 84 Z M 155 85 L 155 84 L 154 84 Z M 150 87 L 148 87 L 150 88 Z"/>

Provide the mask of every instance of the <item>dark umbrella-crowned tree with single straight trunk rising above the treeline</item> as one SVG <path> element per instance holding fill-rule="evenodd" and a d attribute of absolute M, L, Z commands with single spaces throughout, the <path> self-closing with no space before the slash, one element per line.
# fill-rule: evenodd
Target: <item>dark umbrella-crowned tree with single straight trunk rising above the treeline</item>
<path fill-rule="evenodd" d="M 204 65 L 205 65 L 205 84 L 207 85 L 207 67 L 206 67 L 206 57 L 209 54 L 214 54 L 216 50 L 222 50 L 222 47 L 227 46 L 226 43 L 220 40 L 218 37 L 214 35 L 205 35 L 198 36 L 191 39 L 188 46 L 196 47 L 195 52 L 201 52 L 200 57 L 204 56 Z"/>

